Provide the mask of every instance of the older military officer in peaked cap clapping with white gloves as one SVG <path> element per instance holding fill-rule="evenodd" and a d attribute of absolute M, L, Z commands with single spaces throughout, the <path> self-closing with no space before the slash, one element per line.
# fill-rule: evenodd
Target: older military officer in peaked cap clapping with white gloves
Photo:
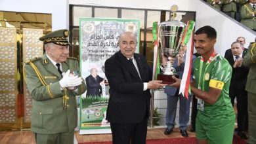
<path fill-rule="evenodd" d="M 45 54 L 26 62 L 25 79 L 32 95 L 32 131 L 39 144 L 74 143 L 76 95 L 87 89 L 78 62 L 69 56 L 69 31 L 60 29 L 40 37 Z"/>

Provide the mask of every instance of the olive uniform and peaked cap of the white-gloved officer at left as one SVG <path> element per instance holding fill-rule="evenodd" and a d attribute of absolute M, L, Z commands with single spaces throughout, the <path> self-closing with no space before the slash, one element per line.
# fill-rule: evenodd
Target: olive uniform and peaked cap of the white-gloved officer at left
<path fill-rule="evenodd" d="M 55 37 L 64 35 L 62 32 L 63 29 L 49 33 L 46 37 L 51 37 L 51 40 L 47 39 L 47 42 L 44 41 L 45 37 L 41 39 L 45 43 L 69 45 L 67 39 L 63 40 L 61 37 Z M 81 77 L 78 62 L 75 58 L 67 58 L 61 65 L 62 71 L 66 72 L 68 69 L 77 71 L 77 75 Z M 62 75 L 46 54 L 42 58 L 29 60 L 24 68 L 26 69 L 26 84 L 32 95 L 32 131 L 35 132 L 36 141 L 41 141 L 38 143 L 73 143 L 74 139 L 72 137 L 74 138 L 74 129 L 77 126 L 75 96 L 85 92 L 87 88 L 85 82 L 83 81 L 75 90 L 61 88 Z M 45 137 L 58 137 L 57 134 L 62 133 L 70 134 L 70 139 L 54 142 L 45 141 Z"/>

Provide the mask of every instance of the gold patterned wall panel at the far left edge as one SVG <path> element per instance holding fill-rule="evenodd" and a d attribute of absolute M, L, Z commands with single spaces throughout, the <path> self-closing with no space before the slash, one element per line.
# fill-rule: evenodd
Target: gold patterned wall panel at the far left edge
<path fill-rule="evenodd" d="M 0 124 L 17 122 L 16 28 L 0 27 Z"/>

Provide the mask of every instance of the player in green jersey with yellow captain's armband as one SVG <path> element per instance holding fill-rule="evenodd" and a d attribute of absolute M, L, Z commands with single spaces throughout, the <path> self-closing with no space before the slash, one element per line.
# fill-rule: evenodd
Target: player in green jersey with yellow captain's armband
<path fill-rule="evenodd" d="M 232 143 L 235 114 L 228 96 L 232 68 L 214 50 L 217 33 L 204 26 L 194 35 L 194 46 L 201 56 L 194 61 L 191 91 L 198 98 L 196 138 L 198 143 Z M 171 86 L 179 87 L 181 80 Z"/>

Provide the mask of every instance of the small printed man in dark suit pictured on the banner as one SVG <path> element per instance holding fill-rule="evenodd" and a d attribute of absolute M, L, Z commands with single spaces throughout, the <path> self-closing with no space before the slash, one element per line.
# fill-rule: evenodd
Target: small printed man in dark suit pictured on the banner
<path fill-rule="evenodd" d="M 91 69 L 91 75 L 85 78 L 87 85 L 86 96 L 102 96 L 102 87 L 104 79 L 98 76 L 98 70 L 96 68 Z"/>

